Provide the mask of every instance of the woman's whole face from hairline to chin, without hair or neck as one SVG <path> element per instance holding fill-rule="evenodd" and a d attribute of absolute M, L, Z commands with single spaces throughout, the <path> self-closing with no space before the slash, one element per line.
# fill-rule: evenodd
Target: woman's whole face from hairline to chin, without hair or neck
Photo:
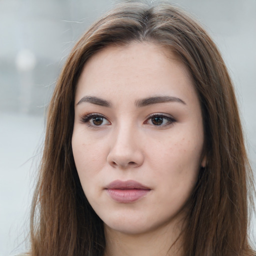
<path fill-rule="evenodd" d="M 109 46 L 86 62 L 74 107 L 75 165 L 105 227 L 135 234 L 177 223 L 205 161 L 185 67 L 152 43 Z"/>

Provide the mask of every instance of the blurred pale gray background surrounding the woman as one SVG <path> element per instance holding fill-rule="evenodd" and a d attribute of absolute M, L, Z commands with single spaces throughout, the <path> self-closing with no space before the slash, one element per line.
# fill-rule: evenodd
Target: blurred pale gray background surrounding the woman
<path fill-rule="evenodd" d="M 25 251 L 44 112 L 61 66 L 111 0 L 0 0 L 0 255 Z M 227 64 L 256 169 L 256 0 L 176 0 Z M 255 216 L 251 239 L 256 237 Z"/>

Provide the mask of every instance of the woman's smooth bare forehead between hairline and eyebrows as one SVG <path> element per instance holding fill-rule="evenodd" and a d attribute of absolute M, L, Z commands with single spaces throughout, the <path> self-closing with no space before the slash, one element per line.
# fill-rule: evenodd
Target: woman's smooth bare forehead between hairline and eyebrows
<path fill-rule="evenodd" d="M 175 55 L 163 46 L 134 42 L 95 53 L 83 67 L 75 101 L 84 95 L 111 100 L 114 95 L 141 98 L 184 93 L 189 97 L 195 91 L 185 66 Z"/>

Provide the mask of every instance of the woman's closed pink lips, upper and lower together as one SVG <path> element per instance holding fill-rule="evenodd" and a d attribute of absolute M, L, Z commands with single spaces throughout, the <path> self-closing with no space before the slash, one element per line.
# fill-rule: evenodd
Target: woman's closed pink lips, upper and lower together
<path fill-rule="evenodd" d="M 114 180 L 105 190 L 114 201 L 129 203 L 146 196 L 151 189 L 135 180 Z"/>

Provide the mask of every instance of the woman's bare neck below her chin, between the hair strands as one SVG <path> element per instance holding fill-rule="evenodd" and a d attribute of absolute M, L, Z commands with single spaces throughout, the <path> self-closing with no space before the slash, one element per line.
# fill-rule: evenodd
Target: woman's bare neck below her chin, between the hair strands
<path fill-rule="evenodd" d="M 123 233 L 104 226 L 104 256 L 181 256 L 180 228 L 163 226 L 139 234 Z"/>

